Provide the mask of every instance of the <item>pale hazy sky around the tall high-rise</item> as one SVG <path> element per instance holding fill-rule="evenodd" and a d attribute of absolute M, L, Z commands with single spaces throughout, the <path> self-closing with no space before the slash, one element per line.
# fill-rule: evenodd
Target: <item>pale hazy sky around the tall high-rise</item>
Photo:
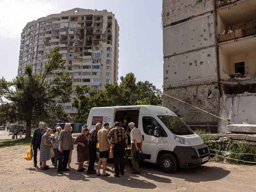
<path fill-rule="evenodd" d="M 120 26 L 119 79 L 132 72 L 137 80 L 162 88 L 161 0 L 0 0 L 0 5 L 0 77 L 11 80 L 17 75 L 20 33 L 27 22 L 78 7 L 115 14 Z"/>

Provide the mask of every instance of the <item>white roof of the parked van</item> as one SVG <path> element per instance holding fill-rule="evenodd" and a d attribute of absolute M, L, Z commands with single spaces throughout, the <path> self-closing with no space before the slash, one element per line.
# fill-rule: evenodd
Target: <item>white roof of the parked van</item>
<path fill-rule="evenodd" d="M 172 115 L 177 116 L 170 109 L 156 105 L 131 105 L 131 106 L 112 106 L 112 107 L 93 107 L 91 109 L 113 109 L 113 108 L 141 108 L 141 114 L 148 114 L 147 111 L 152 111 L 155 115 Z M 144 109 L 144 110 L 143 110 Z"/>

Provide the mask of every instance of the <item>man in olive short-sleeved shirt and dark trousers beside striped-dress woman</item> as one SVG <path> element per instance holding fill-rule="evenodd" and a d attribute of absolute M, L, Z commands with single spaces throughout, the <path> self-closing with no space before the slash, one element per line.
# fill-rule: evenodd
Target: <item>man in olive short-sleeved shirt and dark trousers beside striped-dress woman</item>
<path fill-rule="evenodd" d="M 67 162 L 70 150 L 73 146 L 72 135 L 70 132 L 71 124 L 67 123 L 65 128 L 61 131 L 58 138 L 59 141 L 59 157 L 58 157 L 58 170 L 57 173 L 63 174 L 62 171 L 70 171 L 67 169 Z"/>

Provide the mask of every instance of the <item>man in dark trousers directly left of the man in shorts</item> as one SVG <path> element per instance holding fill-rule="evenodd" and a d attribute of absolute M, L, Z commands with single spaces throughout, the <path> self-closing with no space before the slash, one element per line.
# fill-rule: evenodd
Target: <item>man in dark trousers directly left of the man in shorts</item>
<path fill-rule="evenodd" d="M 96 174 L 94 169 L 94 163 L 97 159 L 97 143 L 98 143 L 98 131 L 101 129 L 101 124 L 97 123 L 95 128 L 91 130 L 88 137 L 88 148 L 89 148 L 89 165 L 87 174 Z"/>

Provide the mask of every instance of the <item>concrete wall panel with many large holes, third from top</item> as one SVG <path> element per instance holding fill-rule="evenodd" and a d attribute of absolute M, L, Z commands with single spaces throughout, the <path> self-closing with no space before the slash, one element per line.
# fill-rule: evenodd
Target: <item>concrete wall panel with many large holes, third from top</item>
<path fill-rule="evenodd" d="M 217 77 L 215 47 L 164 59 L 164 84 L 208 77 Z"/>

